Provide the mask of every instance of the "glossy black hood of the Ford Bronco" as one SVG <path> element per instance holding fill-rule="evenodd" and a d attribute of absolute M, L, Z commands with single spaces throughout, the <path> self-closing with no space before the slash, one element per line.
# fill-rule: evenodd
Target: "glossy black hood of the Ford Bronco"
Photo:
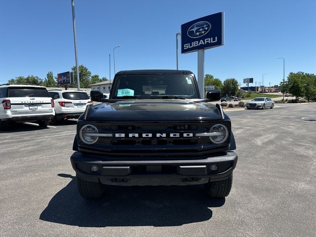
<path fill-rule="evenodd" d="M 190 100 L 128 100 L 92 106 L 90 121 L 205 121 L 222 120 L 221 112 L 212 104 Z"/>

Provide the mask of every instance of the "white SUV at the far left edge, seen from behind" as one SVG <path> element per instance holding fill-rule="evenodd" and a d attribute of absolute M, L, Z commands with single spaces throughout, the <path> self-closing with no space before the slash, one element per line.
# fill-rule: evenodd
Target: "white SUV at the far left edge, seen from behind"
<path fill-rule="evenodd" d="M 8 122 L 37 122 L 46 127 L 54 117 L 54 101 L 46 87 L 0 85 L 0 127 Z"/>

